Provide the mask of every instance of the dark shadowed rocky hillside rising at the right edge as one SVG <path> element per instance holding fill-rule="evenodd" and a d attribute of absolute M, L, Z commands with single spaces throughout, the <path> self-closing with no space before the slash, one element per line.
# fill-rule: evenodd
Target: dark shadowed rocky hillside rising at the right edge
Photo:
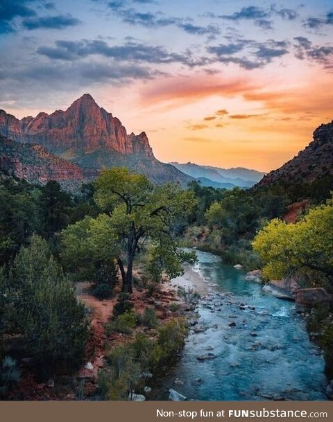
<path fill-rule="evenodd" d="M 257 186 L 275 182 L 313 182 L 325 175 L 333 175 L 333 121 L 319 126 L 314 131 L 313 141 L 304 150 L 264 176 Z"/>

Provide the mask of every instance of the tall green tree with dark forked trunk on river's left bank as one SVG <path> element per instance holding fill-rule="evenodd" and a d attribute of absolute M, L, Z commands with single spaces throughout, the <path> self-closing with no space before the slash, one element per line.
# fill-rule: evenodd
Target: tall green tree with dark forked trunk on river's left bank
<path fill-rule="evenodd" d="M 132 292 L 134 259 L 148 241 L 155 261 L 160 258 L 167 272 L 171 257 L 179 262 L 194 259 L 194 254 L 178 248 L 175 236 L 179 220 L 185 218 L 195 204 L 192 191 L 174 184 L 153 186 L 146 176 L 130 173 L 126 168 L 104 170 L 95 186 L 95 200 L 108 212 L 104 218 L 108 220 L 110 238 L 116 245 L 123 291 Z"/>

